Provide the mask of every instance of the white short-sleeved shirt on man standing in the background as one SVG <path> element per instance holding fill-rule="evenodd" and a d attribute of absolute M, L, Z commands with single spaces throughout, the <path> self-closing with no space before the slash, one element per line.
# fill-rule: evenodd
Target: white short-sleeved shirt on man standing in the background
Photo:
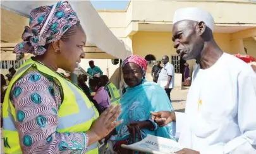
<path fill-rule="evenodd" d="M 166 63 L 159 74 L 157 84 L 159 84 L 162 88 L 167 85 L 168 76 L 171 75 L 171 82 L 169 83 L 169 89 L 173 89 L 174 87 L 174 67 L 171 63 Z"/>

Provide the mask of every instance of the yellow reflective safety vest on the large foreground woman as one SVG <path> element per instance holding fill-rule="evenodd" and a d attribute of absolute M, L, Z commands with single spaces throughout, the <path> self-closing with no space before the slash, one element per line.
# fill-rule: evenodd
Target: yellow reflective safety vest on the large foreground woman
<path fill-rule="evenodd" d="M 16 72 L 6 91 L 3 104 L 3 128 L 4 128 L 4 153 L 22 153 L 18 131 L 15 126 L 16 112 L 15 107 L 9 100 L 11 87 L 30 67 L 35 67 L 42 74 L 50 75 L 59 81 L 63 89 L 63 102 L 58 112 L 58 131 L 59 133 L 86 132 L 92 123 L 99 117 L 97 109 L 89 101 L 83 91 L 75 84 L 71 83 L 58 73 L 52 71 L 39 62 L 31 58 L 25 62 Z M 44 153 L 44 151 L 42 151 Z M 97 154 L 97 143 L 89 146 L 88 154 Z"/>

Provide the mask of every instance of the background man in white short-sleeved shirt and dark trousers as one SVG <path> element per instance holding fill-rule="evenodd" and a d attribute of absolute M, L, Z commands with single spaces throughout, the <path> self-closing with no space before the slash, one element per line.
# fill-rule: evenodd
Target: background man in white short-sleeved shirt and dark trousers
<path fill-rule="evenodd" d="M 162 63 L 164 67 L 159 74 L 157 84 L 159 84 L 168 95 L 171 100 L 171 89 L 174 87 L 174 67 L 171 63 L 169 63 L 169 57 L 165 55 L 162 57 Z"/>

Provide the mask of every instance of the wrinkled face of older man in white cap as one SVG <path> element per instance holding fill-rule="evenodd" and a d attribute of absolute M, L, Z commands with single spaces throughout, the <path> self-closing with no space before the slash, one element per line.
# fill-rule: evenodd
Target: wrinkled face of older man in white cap
<path fill-rule="evenodd" d="M 204 48 L 204 41 L 198 34 L 198 22 L 183 20 L 173 25 L 173 47 L 183 60 L 198 57 Z"/>

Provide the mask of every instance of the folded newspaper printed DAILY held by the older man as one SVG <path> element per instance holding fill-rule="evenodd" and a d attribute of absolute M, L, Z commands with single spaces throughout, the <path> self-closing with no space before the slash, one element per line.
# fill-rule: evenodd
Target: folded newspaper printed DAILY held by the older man
<path fill-rule="evenodd" d="M 183 149 L 178 142 L 168 138 L 161 138 L 158 136 L 147 135 L 142 141 L 132 145 L 121 145 L 123 148 L 133 151 L 140 151 L 144 153 L 153 154 L 170 154 Z"/>

